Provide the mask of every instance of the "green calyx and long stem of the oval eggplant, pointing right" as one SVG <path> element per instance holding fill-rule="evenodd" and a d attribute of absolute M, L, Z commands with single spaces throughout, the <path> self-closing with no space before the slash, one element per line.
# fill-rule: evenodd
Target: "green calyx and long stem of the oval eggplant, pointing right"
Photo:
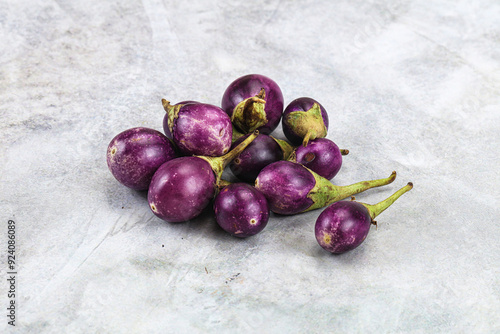
<path fill-rule="evenodd" d="M 392 172 L 392 174 L 385 179 L 361 181 L 348 186 L 336 186 L 312 170 L 308 170 L 314 176 L 316 184 L 307 195 L 307 197 L 313 201 L 313 204 L 303 212 L 323 208 L 367 189 L 392 183 L 396 179 L 396 172 Z"/>

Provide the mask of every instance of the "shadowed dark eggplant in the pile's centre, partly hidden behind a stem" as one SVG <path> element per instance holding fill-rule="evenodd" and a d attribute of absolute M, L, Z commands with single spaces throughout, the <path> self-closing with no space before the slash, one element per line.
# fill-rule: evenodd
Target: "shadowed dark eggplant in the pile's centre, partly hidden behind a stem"
<path fill-rule="evenodd" d="M 233 143 L 233 147 L 241 143 L 243 136 Z M 259 135 L 250 145 L 231 161 L 229 168 L 234 176 L 244 182 L 253 183 L 262 168 L 270 163 L 283 159 L 283 151 L 278 143 L 268 135 Z"/>

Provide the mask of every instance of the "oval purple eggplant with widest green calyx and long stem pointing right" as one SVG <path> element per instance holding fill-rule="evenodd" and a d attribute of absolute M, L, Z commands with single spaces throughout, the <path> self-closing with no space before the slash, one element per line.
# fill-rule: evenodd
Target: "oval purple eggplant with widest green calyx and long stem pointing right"
<path fill-rule="evenodd" d="M 396 172 L 385 179 L 336 186 L 312 170 L 291 161 L 277 161 L 261 170 L 255 180 L 269 201 L 271 211 L 293 215 L 319 209 L 373 187 L 391 183 Z"/>

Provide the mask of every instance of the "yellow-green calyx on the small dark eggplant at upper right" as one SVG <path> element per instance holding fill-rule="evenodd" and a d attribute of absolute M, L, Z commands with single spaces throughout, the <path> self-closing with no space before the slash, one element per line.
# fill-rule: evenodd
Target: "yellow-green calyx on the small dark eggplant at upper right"
<path fill-rule="evenodd" d="M 314 103 L 309 110 L 289 113 L 286 122 L 296 135 L 304 138 L 304 146 L 307 146 L 309 140 L 326 137 L 327 129 L 318 103 Z"/>

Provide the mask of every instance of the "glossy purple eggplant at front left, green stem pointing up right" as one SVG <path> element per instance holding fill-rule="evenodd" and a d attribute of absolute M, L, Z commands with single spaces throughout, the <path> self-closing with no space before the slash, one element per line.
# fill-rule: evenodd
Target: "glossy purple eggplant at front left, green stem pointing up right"
<path fill-rule="evenodd" d="M 257 135 L 255 131 L 221 157 L 181 157 L 163 164 L 149 186 L 148 202 L 153 213 L 167 222 L 198 216 L 215 196 L 224 168 Z"/>

